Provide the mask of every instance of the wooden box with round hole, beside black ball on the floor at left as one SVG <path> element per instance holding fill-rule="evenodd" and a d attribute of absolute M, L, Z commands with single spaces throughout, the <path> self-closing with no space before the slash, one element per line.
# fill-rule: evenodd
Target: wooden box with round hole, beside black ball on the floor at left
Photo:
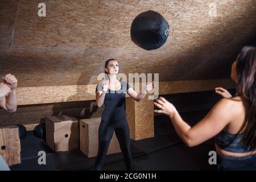
<path fill-rule="evenodd" d="M 46 143 L 53 151 L 68 151 L 79 147 L 78 119 L 68 115 L 46 118 Z"/>

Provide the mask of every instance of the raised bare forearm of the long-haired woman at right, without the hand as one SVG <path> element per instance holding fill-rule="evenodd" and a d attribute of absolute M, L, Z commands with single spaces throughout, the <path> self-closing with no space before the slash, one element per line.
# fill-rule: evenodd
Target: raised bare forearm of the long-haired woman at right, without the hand
<path fill-rule="evenodd" d="M 185 144 L 187 144 L 187 146 L 191 147 L 191 139 L 188 135 L 188 131 L 189 129 L 191 129 L 191 126 L 183 121 L 177 111 L 175 111 L 175 113 L 170 116 L 170 119 L 179 137 L 183 140 Z"/>

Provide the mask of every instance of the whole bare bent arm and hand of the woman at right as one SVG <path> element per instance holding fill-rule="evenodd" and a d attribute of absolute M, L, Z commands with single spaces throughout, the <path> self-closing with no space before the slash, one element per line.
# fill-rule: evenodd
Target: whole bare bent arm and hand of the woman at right
<path fill-rule="evenodd" d="M 236 115 L 232 102 L 228 98 L 222 98 L 201 121 L 191 127 L 183 121 L 174 105 L 163 97 L 156 100 L 154 105 L 159 108 L 155 113 L 170 117 L 177 134 L 189 147 L 197 146 L 220 133 Z"/>

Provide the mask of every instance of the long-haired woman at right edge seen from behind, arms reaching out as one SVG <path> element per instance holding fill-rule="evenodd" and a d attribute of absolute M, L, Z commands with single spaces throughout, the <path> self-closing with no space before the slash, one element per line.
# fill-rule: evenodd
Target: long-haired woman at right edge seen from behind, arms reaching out
<path fill-rule="evenodd" d="M 216 136 L 219 170 L 256 170 L 256 48 L 243 47 L 232 65 L 231 78 L 237 84 L 232 97 L 223 88 L 216 92 L 224 98 L 195 126 L 180 117 L 175 106 L 160 97 L 156 113 L 170 117 L 179 137 L 189 147 Z"/>

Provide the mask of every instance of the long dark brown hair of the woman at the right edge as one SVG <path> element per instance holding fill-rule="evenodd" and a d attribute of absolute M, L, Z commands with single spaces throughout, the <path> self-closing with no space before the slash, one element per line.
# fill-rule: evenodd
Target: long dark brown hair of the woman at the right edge
<path fill-rule="evenodd" d="M 245 147 L 256 147 L 256 47 L 243 47 L 237 57 L 237 94 L 249 101 L 246 122 L 243 123 L 241 142 Z"/>

